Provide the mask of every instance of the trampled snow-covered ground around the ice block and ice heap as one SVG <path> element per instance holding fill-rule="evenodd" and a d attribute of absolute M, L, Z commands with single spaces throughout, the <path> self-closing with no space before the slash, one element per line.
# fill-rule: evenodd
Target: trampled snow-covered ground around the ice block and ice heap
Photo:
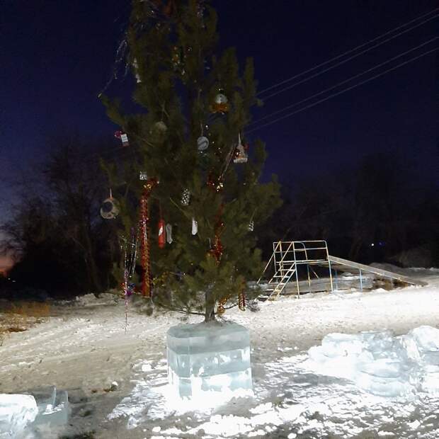
<path fill-rule="evenodd" d="M 409 274 L 429 285 L 282 297 L 260 312 L 227 312 L 250 329 L 254 397 L 214 410 L 168 399 L 166 330 L 179 316 L 132 309 L 125 333 L 120 302 L 59 305 L 47 323 L 12 333 L 0 347 L 0 392 L 67 389 L 65 434 L 94 431 L 95 438 L 439 438 L 439 395 L 378 397 L 304 363 L 328 333 L 439 328 L 439 270 Z"/>

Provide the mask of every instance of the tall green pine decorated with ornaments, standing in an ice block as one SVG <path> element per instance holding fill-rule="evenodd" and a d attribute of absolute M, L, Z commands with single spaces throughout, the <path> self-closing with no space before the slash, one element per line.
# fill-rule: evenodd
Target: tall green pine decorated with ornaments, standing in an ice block
<path fill-rule="evenodd" d="M 125 55 L 138 111 L 103 96 L 132 149 L 124 166 L 106 166 L 127 244 L 125 292 L 137 257 L 142 295 L 205 321 L 245 308 L 262 268 L 253 227 L 280 205 L 275 178 L 258 182 L 263 143 L 246 138 L 253 62 L 240 69 L 233 49 L 215 55 L 216 27 L 204 1 L 134 0 Z"/>

